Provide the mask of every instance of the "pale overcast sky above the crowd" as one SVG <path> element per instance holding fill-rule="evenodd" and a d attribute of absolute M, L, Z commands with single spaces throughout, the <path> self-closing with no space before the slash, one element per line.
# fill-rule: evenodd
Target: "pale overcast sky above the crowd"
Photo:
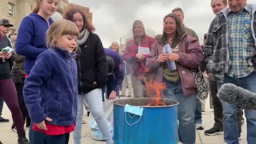
<path fill-rule="evenodd" d="M 132 34 L 132 23 L 141 20 L 146 29 L 153 29 L 157 34 L 163 33 L 163 18 L 175 7 L 181 7 L 185 14 L 184 23 L 194 29 L 202 39 L 207 33 L 210 22 L 214 18 L 210 0 L 69 0 L 90 7 L 93 13 L 95 33 L 101 38 L 103 46 L 108 47 L 111 42 L 119 42 L 119 37 L 129 38 Z M 247 3 L 256 3 L 247 0 Z M 123 39 L 124 42 L 124 39 Z"/>

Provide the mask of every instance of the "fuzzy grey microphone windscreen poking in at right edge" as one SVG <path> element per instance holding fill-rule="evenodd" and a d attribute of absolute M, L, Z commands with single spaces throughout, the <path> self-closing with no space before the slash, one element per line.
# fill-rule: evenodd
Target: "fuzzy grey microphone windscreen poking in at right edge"
<path fill-rule="evenodd" d="M 256 109 L 256 93 L 234 84 L 223 84 L 218 91 L 217 97 L 242 109 Z"/>

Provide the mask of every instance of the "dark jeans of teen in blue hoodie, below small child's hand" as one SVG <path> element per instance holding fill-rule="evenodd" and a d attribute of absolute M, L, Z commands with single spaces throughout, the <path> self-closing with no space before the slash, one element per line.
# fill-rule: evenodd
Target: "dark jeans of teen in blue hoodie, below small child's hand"
<path fill-rule="evenodd" d="M 47 143 L 47 135 L 43 132 L 33 131 L 33 123 L 30 124 L 28 137 L 30 144 L 45 144 Z"/>

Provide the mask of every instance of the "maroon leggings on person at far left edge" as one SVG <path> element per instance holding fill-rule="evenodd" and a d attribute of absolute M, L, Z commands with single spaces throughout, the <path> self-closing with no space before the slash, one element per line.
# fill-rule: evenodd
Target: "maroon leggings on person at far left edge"
<path fill-rule="evenodd" d="M 12 78 L 0 79 L 0 97 L 3 98 L 12 113 L 13 123 L 17 127 L 17 132 L 24 131 L 23 122 L 21 121 L 23 118 Z"/>

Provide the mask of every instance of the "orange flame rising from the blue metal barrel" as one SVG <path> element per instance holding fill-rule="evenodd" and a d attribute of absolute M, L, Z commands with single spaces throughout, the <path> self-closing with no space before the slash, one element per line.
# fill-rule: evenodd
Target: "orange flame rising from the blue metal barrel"
<path fill-rule="evenodd" d="M 163 83 L 154 83 L 151 79 L 149 82 L 146 77 L 138 77 L 146 83 L 147 97 L 156 98 L 156 101 L 151 101 L 147 106 L 166 106 L 166 103 L 161 101 L 161 91 L 166 89 L 166 85 Z"/>

